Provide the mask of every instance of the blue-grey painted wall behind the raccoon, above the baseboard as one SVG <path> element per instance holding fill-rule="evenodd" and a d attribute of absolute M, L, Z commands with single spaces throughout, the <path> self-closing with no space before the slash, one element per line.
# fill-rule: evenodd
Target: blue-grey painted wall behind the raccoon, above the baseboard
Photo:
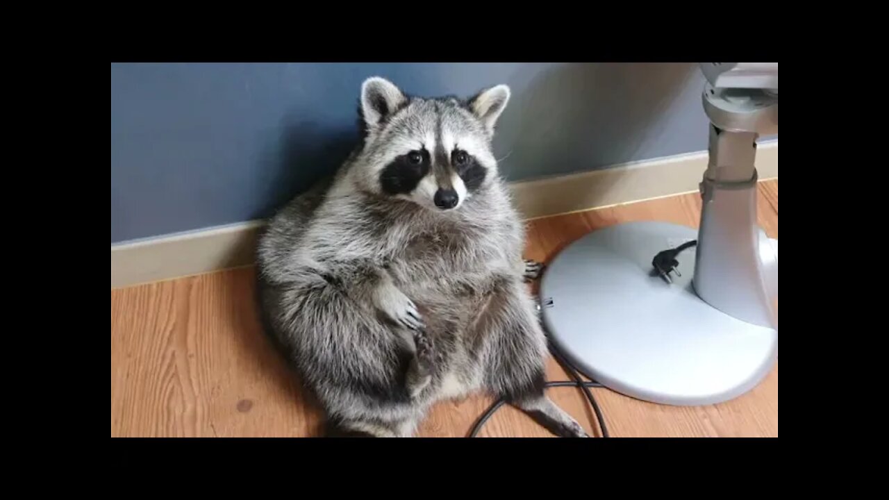
<path fill-rule="evenodd" d="M 358 90 L 513 98 L 509 180 L 707 148 L 694 64 L 112 64 L 111 243 L 266 217 L 357 140 Z"/>

